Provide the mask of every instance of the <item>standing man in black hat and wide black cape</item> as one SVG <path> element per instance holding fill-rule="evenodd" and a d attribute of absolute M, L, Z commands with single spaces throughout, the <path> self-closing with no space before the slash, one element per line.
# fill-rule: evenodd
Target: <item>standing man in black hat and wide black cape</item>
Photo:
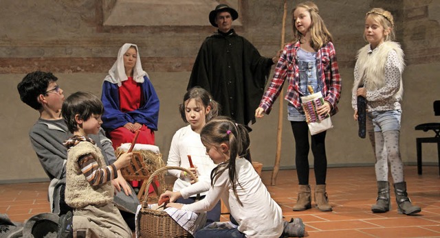
<path fill-rule="evenodd" d="M 221 114 L 250 126 L 264 93 L 272 64 L 278 56 L 265 58 L 232 29 L 239 13 L 219 4 L 209 14 L 218 30 L 205 39 L 192 67 L 188 88 L 201 86 L 221 105 Z"/>

